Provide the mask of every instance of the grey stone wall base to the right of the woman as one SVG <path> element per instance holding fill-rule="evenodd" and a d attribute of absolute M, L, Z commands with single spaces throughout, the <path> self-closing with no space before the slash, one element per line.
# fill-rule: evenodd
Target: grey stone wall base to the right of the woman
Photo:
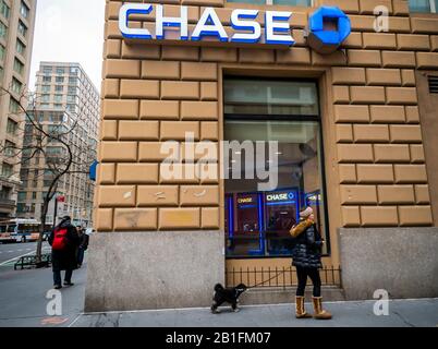
<path fill-rule="evenodd" d="M 348 300 L 438 297 L 438 228 L 339 229 Z"/>

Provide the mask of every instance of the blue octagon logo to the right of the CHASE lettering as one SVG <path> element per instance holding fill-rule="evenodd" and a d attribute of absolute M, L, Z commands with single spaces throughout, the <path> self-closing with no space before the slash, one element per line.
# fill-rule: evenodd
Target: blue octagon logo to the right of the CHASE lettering
<path fill-rule="evenodd" d="M 338 7 L 321 7 L 312 14 L 308 29 L 308 45 L 319 53 L 332 53 L 351 34 L 351 22 Z"/>

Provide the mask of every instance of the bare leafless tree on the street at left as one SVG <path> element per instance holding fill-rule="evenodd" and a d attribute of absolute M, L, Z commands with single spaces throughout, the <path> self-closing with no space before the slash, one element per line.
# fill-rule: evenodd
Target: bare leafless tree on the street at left
<path fill-rule="evenodd" d="M 9 163 L 14 165 L 22 164 L 25 171 L 34 171 L 38 176 L 45 176 L 45 182 L 49 182 L 46 194 L 42 197 L 40 213 L 40 231 L 36 251 L 37 262 L 41 260 L 42 239 L 47 221 L 49 203 L 56 196 L 61 180 L 69 174 L 88 174 L 89 167 L 96 159 L 95 144 L 89 142 L 75 142 L 77 134 L 84 136 L 85 131 L 81 133 L 81 128 L 85 118 L 83 110 L 70 112 L 65 109 L 57 110 L 60 116 L 58 120 L 47 122 L 45 115 L 48 109 L 40 108 L 40 96 L 22 92 L 17 94 L 11 89 L 0 87 L 0 94 L 8 94 L 13 97 L 16 104 L 15 113 L 22 120 L 19 132 L 23 136 L 23 144 L 16 145 L 5 142 L 0 145 L 0 154 L 8 158 Z M 50 112 L 54 110 L 50 109 Z M 48 124 L 51 127 L 49 128 Z M 57 152 L 51 152 L 57 149 Z M 38 165 L 34 168 L 31 160 L 38 159 Z M 44 163 L 42 163 L 44 161 Z M 15 176 L 16 173 L 11 173 Z M 34 178 L 35 180 L 35 178 Z M 54 224 L 54 217 L 53 217 Z"/>

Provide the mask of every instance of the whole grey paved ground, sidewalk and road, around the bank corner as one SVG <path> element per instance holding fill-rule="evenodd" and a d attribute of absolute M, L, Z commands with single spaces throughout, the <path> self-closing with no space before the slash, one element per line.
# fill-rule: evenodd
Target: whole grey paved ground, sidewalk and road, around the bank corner
<path fill-rule="evenodd" d="M 1 245 L 9 258 L 26 253 L 35 244 Z M 4 249 L 7 248 L 7 249 Z M 23 250 L 23 251 L 20 251 Z M 46 246 L 47 250 L 47 246 Z M 15 251 L 15 254 L 13 252 Z M 50 268 L 14 270 L 0 267 L 0 327 L 437 327 L 438 299 L 392 300 L 389 315 L 374 314 L 375 301 L 327 302 L 333 320 L 296 320 L 292 304 L 247 305 L 239 313 L 223 308 L 212 315 L 209 309 L 180 309 L 84 314 L 86 263 L 73 273 L 73 287 L 63 288 L 62 314 L 49 316 L 46 298 L 52 287 Z M 4 263 L 4 262 L 3 262 Z M 291 294 L 291 299 L 292 299 Z M 306 304 L 311 310 L 311 304 Z"/>

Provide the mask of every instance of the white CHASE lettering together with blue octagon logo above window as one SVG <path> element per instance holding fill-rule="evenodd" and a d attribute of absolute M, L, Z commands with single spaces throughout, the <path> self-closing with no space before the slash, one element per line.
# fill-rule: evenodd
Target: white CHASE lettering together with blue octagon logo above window
<path fill-rule="evenodd" d="M 326 11 L 325 17 L 320 9 L 332 9 L 332 11 Z M 318 38 L 321 38 L 323 40 L 325 37 L 330 38 L 331 41 L 329 45 L 333 45 L 333 37 L 338 37 L 340 40 L 338 44 L 340 45 L 351 32 L 350 20 L 338 8 L 324 7 L 320 9 L 315 13 L 316 21 L 313 21 L 312 16 L 309 23 L 316 23 L 314 26 L 318 29 Z M 154 10 L 155 29 L 147 27 L 130 27 L 130 16 L 148 15 Z M 190 31 L 188 28 L 187 7 L 180 7 L 180 16 L 178 17 L 166 16 L 163 12 L 165 8 L 161 4 L 123 4 L 119 13 L 119 28 L 122 36 L 126 39 L 136 40 L 171 39 L 196 43 L 206 39 L 211 41 L 211 39 L 214 39 L 219 43 L 264 44 L 285 47 L 293 46 L 295 43 L 292 37 L 291 25 L 289 23 L 291 16 L 293 16 L 293 13 L 289 11 L 265 11 L 263 16 L 263 26 L 257 21 L 259 17 L 259 10 L 235 9 L 231 12 L 230 16 L 230 23 L 233 31 L 232 33 L 227 33 L 226 27 L 220 22 L 219 16 L 214 8 L 206 8 L 203 11 L 193 31 Z M 338 23 L 341 24 L 338 25 L 334 32 L 339 31 L 338 28 L 341 28 L 342 35 L 320 35 L 320 32 L 324 32 L 324 22 L 328 19 L 331 22 L 338 21 Z M 313 33 L 312 25 L 309 27 L 309 33 Z M 169 35 L 172 37 L 169 38 Z"/>

